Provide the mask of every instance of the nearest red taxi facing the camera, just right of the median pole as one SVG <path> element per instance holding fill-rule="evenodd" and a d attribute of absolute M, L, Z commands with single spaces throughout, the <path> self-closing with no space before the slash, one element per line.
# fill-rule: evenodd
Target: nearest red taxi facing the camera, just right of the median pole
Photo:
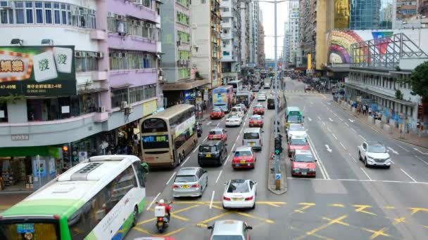
<path fill-rule="evenodd" d="M 296 150 L 291 159 L 291 175 L 315 177 L 316 161 L 309 150 Z"/>

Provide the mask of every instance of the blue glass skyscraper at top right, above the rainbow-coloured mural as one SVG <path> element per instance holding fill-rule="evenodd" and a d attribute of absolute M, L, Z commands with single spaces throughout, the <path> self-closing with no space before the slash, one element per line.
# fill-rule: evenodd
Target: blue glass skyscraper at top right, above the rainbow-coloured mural
<path fill-rule="evenodd" d="M 351 0 L 349 28 L 391 29 L 394 0 Z"/>

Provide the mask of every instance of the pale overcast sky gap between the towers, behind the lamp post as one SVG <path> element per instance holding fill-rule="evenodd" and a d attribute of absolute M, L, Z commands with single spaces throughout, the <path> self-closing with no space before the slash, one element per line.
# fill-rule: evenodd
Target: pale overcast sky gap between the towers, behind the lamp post
<path fill-rule="evenodd" d="M 277 4 L 277 44 L 278 58 L 282 53 L 282 41 L 284 39 L 284 22 L 288 20 L 288 1 Z M 265 54 L 266 58 L 275 57 L 275 16 L 274 4 L 260 2 L 260 11 L 263 12 L 263 27 L 265 29 Z"/>

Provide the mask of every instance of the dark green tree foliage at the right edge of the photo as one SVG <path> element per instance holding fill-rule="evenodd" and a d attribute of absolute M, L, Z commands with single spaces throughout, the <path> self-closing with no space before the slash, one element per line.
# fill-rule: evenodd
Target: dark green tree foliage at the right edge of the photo
<path fill-rule="evenodd" d="M 428 61 L 418 65 L 410 75 L 412 94 L 428 98 Z"/>

